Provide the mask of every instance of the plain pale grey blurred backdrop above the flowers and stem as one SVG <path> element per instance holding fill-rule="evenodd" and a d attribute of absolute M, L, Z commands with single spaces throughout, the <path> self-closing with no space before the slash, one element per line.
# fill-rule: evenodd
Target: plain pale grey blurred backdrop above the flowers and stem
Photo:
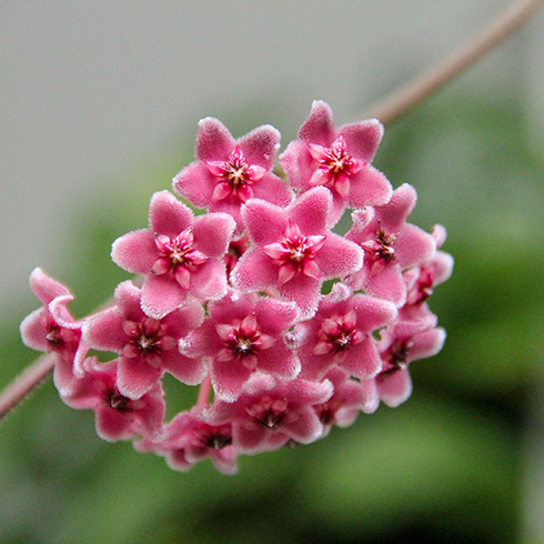
<path fill-rule="evenodd" d="M 329 101 L 339 122 L 356 119 L 507 4 L 3 0 L 0 315 L 30 303 L 36 265 L 62 276 L 67 210 L 187 148 L 200 118 L 259 109 L 285 145 L 312 100 Z M 541 121 L 543 36 L 541 13 L 477 67 L 487 92 L 523 80 Z"/>

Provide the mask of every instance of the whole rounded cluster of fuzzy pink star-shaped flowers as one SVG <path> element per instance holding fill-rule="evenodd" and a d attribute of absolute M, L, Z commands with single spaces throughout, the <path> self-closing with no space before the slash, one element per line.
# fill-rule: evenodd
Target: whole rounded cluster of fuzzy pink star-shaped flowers
<path fill-rule="evenodd" d="M 203 119 L 173 190 L 206 212 L 153 194 L 149 228 L 113 243 L 113 261 L 139 278 L 117 286 L 112 305 L 74 320 L 69 290 L 31 274 L 43 306 L 22 338 L 54 354 L 63 402 L 92 410 L 108 441 L 134 440 L 177 470 L 211 459 L 226 474 L 241 454 L 308 444 L 380 401 L 404 402 L 410 363 L 443 345 L 426 301 L 453 260 L 439 251 L 443 226 L 406 223 L 415 190 L 393 191 L 372 167 L 382 135 L 376 120 L 336 128 L 314 102 L 280 157 L 286 182 L 273 172 L 274 128 L 235 140 Z M 97 351 L 117 356 L 99 362 Z M 200 385 L 169 422 L 167 372 Z"/>

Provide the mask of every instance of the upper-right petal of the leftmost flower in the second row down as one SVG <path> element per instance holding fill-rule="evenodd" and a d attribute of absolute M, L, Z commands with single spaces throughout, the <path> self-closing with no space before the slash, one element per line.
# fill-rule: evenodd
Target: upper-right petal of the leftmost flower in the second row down
<path fill-rule="evenodd" d="M 193 223 L 194 245 L 208 256 L 223 256 L 235 226 L 228 213 L 199 215 Z"/>

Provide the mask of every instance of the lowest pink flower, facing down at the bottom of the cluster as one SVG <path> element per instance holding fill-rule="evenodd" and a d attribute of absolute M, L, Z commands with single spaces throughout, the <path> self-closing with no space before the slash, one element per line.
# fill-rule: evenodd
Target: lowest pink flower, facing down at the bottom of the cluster
<path fill-rule="evenodd" d="M 150 440 L 134 443 L 140 452 L 154 452 L 167 459 L 177 471 L 188 471 L 199 461 L 210 459 L 218 471 L 235 474 L 236 453 L 232 445 L 231 424 L 210 425 L 200 415 L 201 410 L 179 413 L 165 427 L 160 442 Z"/>

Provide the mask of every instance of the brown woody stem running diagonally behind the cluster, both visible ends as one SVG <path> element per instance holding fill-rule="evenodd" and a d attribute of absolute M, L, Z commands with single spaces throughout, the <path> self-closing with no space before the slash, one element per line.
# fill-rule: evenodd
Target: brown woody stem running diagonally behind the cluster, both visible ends
<path fill-rule="evenodd" d="M 514 2 L 473 40 L 383 101 L 371 105 L 363 117 L 380 119 L 385 125 L 394 123 L 511 36 L 543 4 L 544 0 Z M 52 373 L 53 365 L 52 354 L 41 356 L 0 393 L 0 420 Z M 208 387 L 203 387 L 202 393 L 206 390 Z M 202 396 L 200 402 L 205 403 L 205 397 Z"/>

